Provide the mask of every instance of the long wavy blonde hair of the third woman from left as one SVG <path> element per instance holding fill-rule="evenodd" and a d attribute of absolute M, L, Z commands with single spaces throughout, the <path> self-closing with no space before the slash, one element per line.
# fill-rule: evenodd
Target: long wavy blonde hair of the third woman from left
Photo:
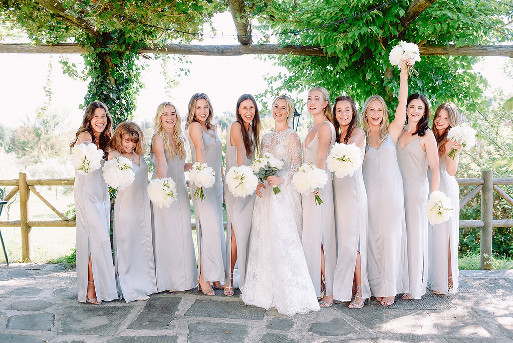
<path fill-rule="evenodd" d="M 175 109 L 176 113 L 176 122 L 173 127 L 173 131 L 171 132 L 171 136 L 167 134 L 164 126 L 162 126 L 162 114 L 164 114 L 164 110 L 166 106 L 171 106 Z M 169 153 L 169 157 L 173 159 L 175 155 L 180 156 L 180 159 L 185 158 L 185 140 L 182 136 L 182 119 L 180 118 L 180 114 L 176 109 L 176 106 L 170 102 L 163 102 L 157 107 L 157 113 L 155 114 L 155 134 L 162 137 L 164 141 L 164 150 Z M 174 145 L 173 145 L 174 141 Z"/>

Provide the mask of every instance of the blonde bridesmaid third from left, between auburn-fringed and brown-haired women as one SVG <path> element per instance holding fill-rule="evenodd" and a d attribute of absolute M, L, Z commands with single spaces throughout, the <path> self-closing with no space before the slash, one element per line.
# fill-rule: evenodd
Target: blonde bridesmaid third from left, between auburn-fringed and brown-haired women
<path fill-rule="evenodd" d="M 192 289 L 196 287 L 198 272 L 184 174 L 191 165 L 185 163 L 181 120 L 170 102 L 163 102 L 157 108 L 151 160 L 155 165 L 152 178 L 172 178 L 177 193 L 176 201 L 169 207 L 152 207 L 157 292 Z"/>

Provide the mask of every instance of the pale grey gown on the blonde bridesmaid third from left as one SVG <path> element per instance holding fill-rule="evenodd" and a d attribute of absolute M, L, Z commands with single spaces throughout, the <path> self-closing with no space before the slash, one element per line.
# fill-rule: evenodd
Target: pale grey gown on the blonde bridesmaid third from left
<path fill-rule="evenodd" d="M 196 287 L 198 272 L 191 230 L 191 207 L 185 184 L 185 160 L 166 151 L 167 174 L 176 184 L 177 199 L 169 207 L 152 206 L 153 253 L 157 292 L 185 291 Z M 154 154 L 153 179 L 157 178 L 158 161 Z"/>

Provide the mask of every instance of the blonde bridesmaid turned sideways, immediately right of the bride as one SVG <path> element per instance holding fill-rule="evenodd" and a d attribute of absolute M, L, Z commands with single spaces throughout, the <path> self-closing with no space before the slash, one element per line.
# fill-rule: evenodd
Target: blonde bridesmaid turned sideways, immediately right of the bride
<path fill-rule="evenodd" d="M 326 158 L 336 139 L 328 91 L 322 87 L 310 89 L 307 106 L 313 125 L 303 144 L 304 162 L 327 171 Z M 328 183 L 318 191 L 323 200 L 321 205 L 315 203 L 314 193 L 302 196 L 303 249 L 317 297 L 324 291 L 319 302 L 321 307 L 333 305 L 333 276 L 337 263 L 333 185 L 331 173 L 327 172 Z"/>

